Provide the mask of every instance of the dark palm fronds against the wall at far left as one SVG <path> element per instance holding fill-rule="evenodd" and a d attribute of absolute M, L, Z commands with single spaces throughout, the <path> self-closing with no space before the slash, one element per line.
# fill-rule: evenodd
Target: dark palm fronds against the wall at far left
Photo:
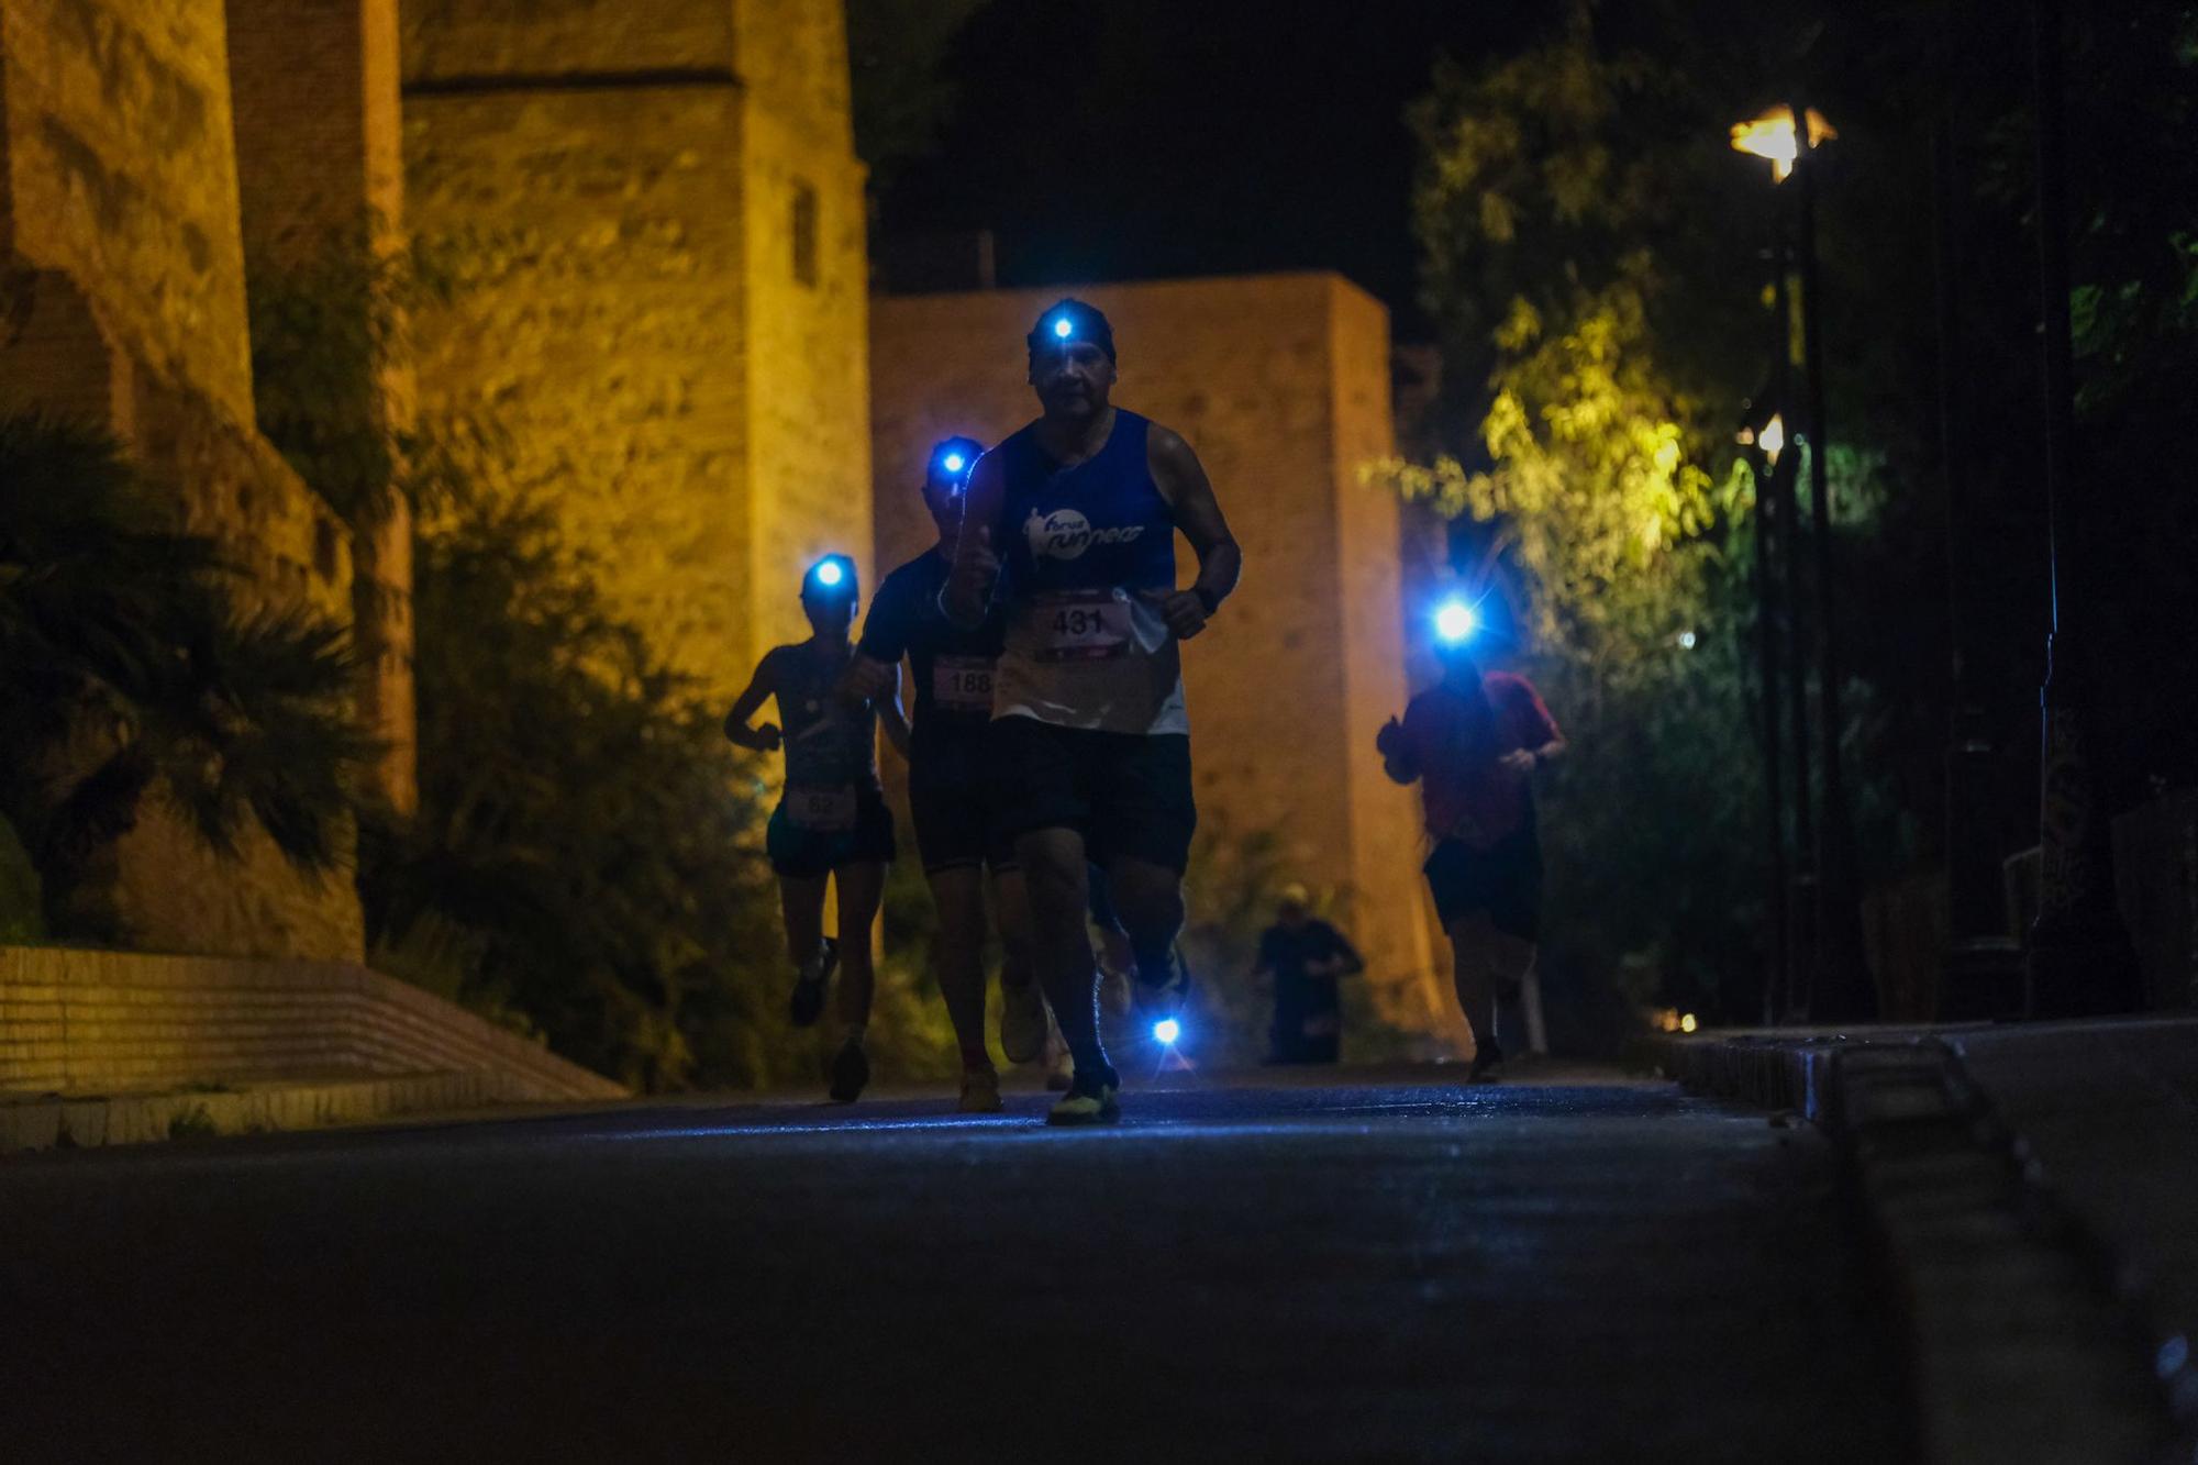
<path fill-rule="evenodd" d="M 145 798 L 224 856 L 255 823 L 332 869 L 371 752 L 343 629 L 237 612 L 240 572 L 103 433 L 0 418 L 0 816 L 53 935 L 125 935 L 86 902 Z"/>

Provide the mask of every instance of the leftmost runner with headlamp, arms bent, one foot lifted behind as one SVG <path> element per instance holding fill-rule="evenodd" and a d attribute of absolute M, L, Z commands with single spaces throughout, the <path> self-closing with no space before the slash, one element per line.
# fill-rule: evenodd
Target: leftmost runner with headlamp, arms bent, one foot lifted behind
<path fill-rule="evenodd" d="M 793 959 L 789 1016 L 811 1027 L 824 1012 L 833 966 L 840 970 L 844 1034 L 831 1062 L 831 1095 L 855 1102 L 870 1082 L 864 1038 L 877 974 L 870 966 L 870 922 L 892 862 L 892 809 L 877 783 L 877 717 L 895 741 L 899 706 L 884 697 L 848 695 L 842 680 L 853 662 L 846 634 L 855 623 L 855 561 L 826 554 L 802 576 L 802 614 L 811 636 L 771 647 L 756 664 L 732 711 L 725 737 L 756 752 L 785 750 L 787 785 L 765 829 L 765 853 L 778 875 L 778 906 Z M 778 724 L 750 726 L 763 702 L 778 700 Z M 824 886 L 837 884 L 840 935 L 824 937 Z"/>

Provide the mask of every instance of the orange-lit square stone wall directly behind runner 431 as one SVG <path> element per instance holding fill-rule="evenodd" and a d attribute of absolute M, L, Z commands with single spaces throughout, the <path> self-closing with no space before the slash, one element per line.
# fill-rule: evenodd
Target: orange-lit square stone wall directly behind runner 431
<path fill-rule="evenodd" d="M 1420 882 L 1413 794 L 1374 730 L 1405 704 L 1396 502 L 1358 484 L 1389 451 L 1389 321 L 1334 275 L 1081 286 L 1114 323 L 1114 400 L 1180 431 L 1244 546 L 1244 587 L 1185 649 L 1200 818 L 1275 829 L 1308 884 L 1343 897 L 1376 1001 L 1446 1032 Z M 921 552 L 930 444 L 1026 422 L 1022 334 L 1059 290 L 870 306 L 877 554 Z M 1191 574 L 1178 548 L 1180 579 Z"/>

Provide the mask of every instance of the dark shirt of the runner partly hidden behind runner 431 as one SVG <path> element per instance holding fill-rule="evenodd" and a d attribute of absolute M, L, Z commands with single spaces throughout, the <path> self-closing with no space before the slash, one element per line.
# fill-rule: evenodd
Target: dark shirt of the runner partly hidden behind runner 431
<path fill-rule="evenodd" d="M 945 743 L 974 743 L 991 722 L 991 678 L 1000 660 L 998 603 L 985 625 L 963 631 L 939 609 L 947 583 L 947 557 L 925 550 L 886 576 L 870 601 L 855 647 L 875 662 L 899 667 L 908 658 L 914 680 L 912 754 Z"/>

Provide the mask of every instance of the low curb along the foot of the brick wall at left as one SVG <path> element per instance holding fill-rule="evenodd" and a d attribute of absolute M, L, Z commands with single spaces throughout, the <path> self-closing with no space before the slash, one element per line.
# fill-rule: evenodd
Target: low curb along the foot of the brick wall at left
<path fill-rule="evenodd" d="M 48 1093 L 0 1102 L 0 1155 L 325 1128 L 407 1113 L 486 1109 L 519 1098 L 525 1095 L 514 1093 L 506 1076 L 481 1071 L 330 1078 L 180 1093 Z"/>

